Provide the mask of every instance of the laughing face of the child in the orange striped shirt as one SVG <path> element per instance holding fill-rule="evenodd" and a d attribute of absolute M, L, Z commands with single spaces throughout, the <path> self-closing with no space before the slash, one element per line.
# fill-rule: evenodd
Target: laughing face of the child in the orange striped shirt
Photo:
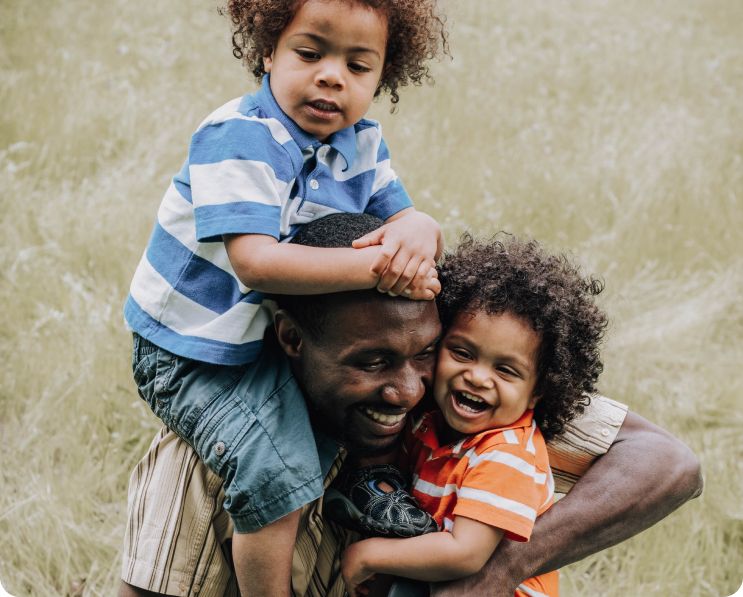
<path fill-rule="evenodd" d="M 510 425 L 534 408 L 541 336 L 512 313 L 460 313 L 441 342 L 434 398 L 466 435 Z"/>

